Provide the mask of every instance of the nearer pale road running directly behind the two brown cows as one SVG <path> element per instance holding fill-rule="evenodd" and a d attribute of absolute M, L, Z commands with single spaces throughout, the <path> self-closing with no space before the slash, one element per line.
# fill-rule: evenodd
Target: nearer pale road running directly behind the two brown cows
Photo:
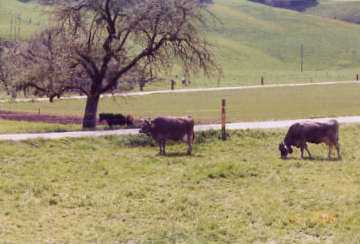
<path fill-rule="evenodd" d="M 318 118 L 308 119 L 311 121 L 326 121 L 334 118 Z M 348 117 L 337 117 L 335 118 L 339 123 L 360 123 L 360 116 L 348 116 Z M 281 121 L 261 121 L 261 122 L 242 122 L 242 123 L 231 123 L 226 124 L 229 130 L 245 130 L 245 129 L 267 129 L 267 128 L 283 128 L 289 127 L 291 124 L 303 121 L 300 120 L 281 120 Z M 196 125 L 195 131 L 205 130 L 220 130 L 220 124 L 212 125 Z M 6 134 L 0 135 L 0 140 L 28 140 L 34 138 L 43 139 L 59 139 L 67 137 L 90 137 L 90 136 L 106 136 L 106 135 L 134 135 L 138 134 L 139 129 L 121 129 L 121 130 L 107 130 L 107 131 L 75 131 L 75 132 L 56 132 L 56 133 L 41 133 L 41 134 Z"/>

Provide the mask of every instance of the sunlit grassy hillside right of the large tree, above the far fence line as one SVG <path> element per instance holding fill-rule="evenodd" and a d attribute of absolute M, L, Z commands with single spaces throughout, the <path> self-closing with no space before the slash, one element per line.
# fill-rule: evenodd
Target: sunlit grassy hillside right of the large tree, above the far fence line
<path fill-rule="evenodd" d="M 227 80 L 255 75 L 259 82 L 262 73 L 265 77 L 278 75 L 273 80 L 283 80 L 281 76 L 290 73 L 295 78 L 319 75 L 316 79 L 321 80 L 328 75 L 332 79 L 336 72 L 351 73 L 359 67 L 358 25 L 248 1 L 215 3 L 211 9 L 223 24 L 214 27 L 210 39 L 217 43 L 217 57 Z M 301 45 L 305 74 L 299 72 Z M 292 78 L 289 75 L 286 79 Z"/>

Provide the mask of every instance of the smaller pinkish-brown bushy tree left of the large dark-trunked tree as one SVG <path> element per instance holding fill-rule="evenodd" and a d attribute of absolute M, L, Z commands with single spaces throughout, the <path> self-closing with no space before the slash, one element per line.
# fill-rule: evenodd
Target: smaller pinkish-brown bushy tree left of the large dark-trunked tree
<path fill-rule="evenodd" d="M 7 74 L 16 90 L 48 96 L 52 102 L 69 90 L 86 91 L 86 73 L 71 58 L 68 39 L 59 28 L 47 29 L 8 50 Z M 11 73 L 12 70 L 21 72 Z"/>

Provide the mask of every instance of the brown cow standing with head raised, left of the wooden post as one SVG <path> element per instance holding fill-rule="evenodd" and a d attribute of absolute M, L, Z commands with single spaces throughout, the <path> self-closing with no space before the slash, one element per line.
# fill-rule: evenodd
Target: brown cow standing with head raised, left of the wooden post
<path fill-rule="evenodd" d="M 159 143 L 160 155 L 165 155 L 167 140 L 185 141 L 188 144 L 187 154 L 192 152 L 195 134 L 194 120 L 191 117 L 157 117 L 151 121 L 145 120 L 139 132 L 151 136 Z"/>

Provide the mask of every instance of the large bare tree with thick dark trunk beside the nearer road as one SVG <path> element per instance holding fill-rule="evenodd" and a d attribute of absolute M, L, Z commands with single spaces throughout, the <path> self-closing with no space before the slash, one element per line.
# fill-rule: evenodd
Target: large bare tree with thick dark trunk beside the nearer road
<path fill-rule="evenodd" d="M 119 85 L 149 80 L 174 63 L 192 72 L 219 71 L 204 36 L 212 15 L 198 0 L 61 3 L 54 11 L 59 26 L 23 48 L 31 74 L 19 87 L 49 97 L 81 90 L 87 96 L 84 129 L 96 126 L 100 95 Z"/>

